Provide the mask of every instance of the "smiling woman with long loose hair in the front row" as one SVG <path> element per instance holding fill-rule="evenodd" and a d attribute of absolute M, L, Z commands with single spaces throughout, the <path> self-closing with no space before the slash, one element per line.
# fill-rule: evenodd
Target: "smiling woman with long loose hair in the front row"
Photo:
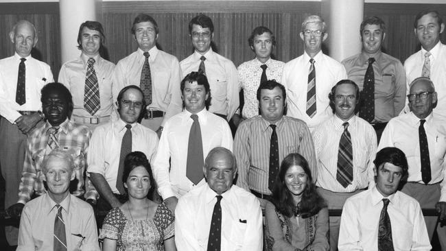
<path fill-rule="evenodd" d="M 265 208 L 267 250 L 329 250 L 328 209 L 300 154 L 283 159 L 271 202 Z"/>

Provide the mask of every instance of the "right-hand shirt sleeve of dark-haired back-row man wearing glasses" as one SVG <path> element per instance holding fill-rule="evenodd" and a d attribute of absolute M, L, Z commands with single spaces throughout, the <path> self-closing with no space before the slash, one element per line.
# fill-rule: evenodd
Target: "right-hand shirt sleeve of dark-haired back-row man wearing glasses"
<path fill-rule="evenodd" d="M 233 62 L 228 62 L 225 68 L 228 77 L 228 85 L 226 86 L 228 110 L 226 119 L 229 121 L 233 117 L 235 110 L 239 108 L 239 75 Z"/>

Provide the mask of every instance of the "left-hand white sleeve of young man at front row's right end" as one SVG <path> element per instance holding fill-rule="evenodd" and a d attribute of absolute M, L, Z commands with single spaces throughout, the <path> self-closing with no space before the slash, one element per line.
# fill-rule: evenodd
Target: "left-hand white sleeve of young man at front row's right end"
<path fill-rule="evenodd" d="M 357 215 L 357 208 L 349 200 L 345 202 L 342 208 L 341 224 L 339 229 L 338 250 L 351 251 L 363 250 L 360 246 L 360 232 L 358 222 L 360 222 L 359 215 Z"/>

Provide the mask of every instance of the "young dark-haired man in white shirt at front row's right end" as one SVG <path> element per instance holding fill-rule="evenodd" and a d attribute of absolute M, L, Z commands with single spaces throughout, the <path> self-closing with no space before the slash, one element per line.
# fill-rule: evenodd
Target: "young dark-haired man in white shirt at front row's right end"
<path fill-rule="evenodd" d="M 429 251 L 420 204 L 397 191 L 408 178 L 405 154 L 386 147 L 373 163 L 376 186 L 349 198 L 342 209 L 339 251 Z"/>

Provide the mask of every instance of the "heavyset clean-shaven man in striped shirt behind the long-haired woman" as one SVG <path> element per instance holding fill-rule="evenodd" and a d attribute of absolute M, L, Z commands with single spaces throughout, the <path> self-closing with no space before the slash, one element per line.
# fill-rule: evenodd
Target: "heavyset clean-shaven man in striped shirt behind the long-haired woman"
<path fill-rule="evenodd" d="M 284 116 L 285 87 L 274 80 L 262 82 L 257 90 L 257 99 L 261 115 L 240 123 L 234 139 L 234 154 L 239 169 L 237 186 L 256 195 L 264 209 L 274 185 L 271 183 L 274 183 L 285 156 L 294 152 L 304 156 L 313 177 L 316 177 L 316 162 L 307 124 L 301 119 Z M 278 150 L 275 155 L 273 148 Z M 275 157 L 272 159 L 270 156 Z M 272 169 L 276 168 L 277 172 L 274 172 Z"/>

